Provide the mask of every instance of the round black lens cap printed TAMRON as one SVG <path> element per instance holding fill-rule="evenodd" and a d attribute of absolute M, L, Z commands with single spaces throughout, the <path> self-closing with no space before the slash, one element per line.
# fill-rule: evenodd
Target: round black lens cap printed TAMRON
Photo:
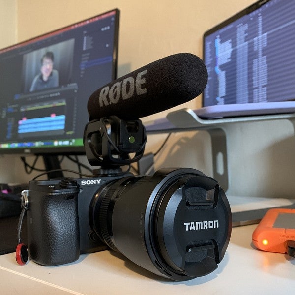
<path fill-rule="evenodd" d="M 184 176 L 158 204 L 155 231 L 166 271 L 199 277 L 217 268 L 231 234 L 230 206 L 217 182 Z"/>

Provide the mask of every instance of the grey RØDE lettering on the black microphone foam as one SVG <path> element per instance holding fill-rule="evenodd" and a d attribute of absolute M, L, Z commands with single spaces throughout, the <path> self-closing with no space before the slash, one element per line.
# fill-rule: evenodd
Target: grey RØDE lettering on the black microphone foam
<path fill-rule="evenodd" d="M 148 70 L 144 70 L 136 75 L 135 81 L 133 77 L 127 77 L 121 82 L 116 82 L 110 88 L 109 86 L 101 89 L 99 93 L 99 106 L 108 106 L 109 104 L 116 104 L 120 97 L 122 99 L 128 99 L 133 96 L 134 92 L 137 95 L 145 94 L 148 90 L 143 87 L 146 83 L 146 78 Z"/>

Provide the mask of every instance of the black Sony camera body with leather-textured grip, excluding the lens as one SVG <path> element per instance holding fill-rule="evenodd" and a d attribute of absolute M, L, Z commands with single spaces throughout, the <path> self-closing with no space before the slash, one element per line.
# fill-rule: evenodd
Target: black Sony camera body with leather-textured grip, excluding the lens
<path fill-rule="evenodd" d="M 106 250 L 108 247 L 90 227 L 89 207 L 102 185 L 120 178 L 30 181 L 27 210 L 30 259 L 55 266 L 73 262 L 82 253 Z"/>

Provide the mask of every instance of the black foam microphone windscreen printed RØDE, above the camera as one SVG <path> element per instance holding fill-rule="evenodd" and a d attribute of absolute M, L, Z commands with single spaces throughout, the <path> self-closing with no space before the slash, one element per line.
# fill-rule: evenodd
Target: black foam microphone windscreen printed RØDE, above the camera
<path fill-rule="evenodd" d="M 202 59 L 179 53 L 143 66 L 97 89 L 88 100 L 90 120 L 146 117 L 200 95 L 207 85 Z"/>

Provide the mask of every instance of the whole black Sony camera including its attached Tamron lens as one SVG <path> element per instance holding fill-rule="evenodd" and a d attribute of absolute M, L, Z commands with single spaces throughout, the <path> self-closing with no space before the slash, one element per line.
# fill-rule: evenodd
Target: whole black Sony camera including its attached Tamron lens
<path fill-rule="evenodd" d="M 111 248 L 155 274 L 188 280 L 217 267 L 231 235 L 224 191 L 190 168 L 32 181 L 28 200 L 29 257 L 46 266 Z"/>

